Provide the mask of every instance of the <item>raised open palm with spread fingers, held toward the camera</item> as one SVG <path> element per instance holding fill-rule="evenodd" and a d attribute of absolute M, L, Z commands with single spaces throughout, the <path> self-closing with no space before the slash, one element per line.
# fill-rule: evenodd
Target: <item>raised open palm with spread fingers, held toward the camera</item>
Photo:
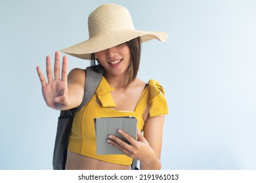
<path fill-rule="evenodd" d="M 68 58 L 66 56 L 63 57 L 61 78 L 59 52 L 55 53 L 54 78 L 50 56 L 46 58 L 46 72 L 48 83 L 40 67 L 37 66 L 37 74 L 41 81 L 43 98 L 49 107 L 62 110 L 62 108 L 65 108 L 70 103 L 68 100 Z"/>

